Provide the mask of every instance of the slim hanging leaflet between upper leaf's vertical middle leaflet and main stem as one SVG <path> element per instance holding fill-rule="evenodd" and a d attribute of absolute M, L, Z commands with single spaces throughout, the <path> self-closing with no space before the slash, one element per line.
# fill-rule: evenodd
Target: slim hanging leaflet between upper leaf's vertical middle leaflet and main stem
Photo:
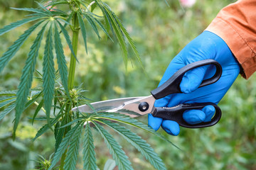
<path fill-rule="evenodd" d="M 56 52 L 56 57 L 57 57 L 57 62 L 58 62 L 58 70 L 60 72 L 60 79 L 61 79 L 61 82 L 63 83 L 63 87 L 66 91 L 66 94 L 68 94 L 68 96 L 69 96 L 67 62 L 65 60 L 65 55 L 63 52 L 63 45 L 61 44 L 60 34 L 58 33 L 57 24 L 54 23 L 54 26 L 55 26 L 54 42 L 55 42 L 55 52 Z"/>

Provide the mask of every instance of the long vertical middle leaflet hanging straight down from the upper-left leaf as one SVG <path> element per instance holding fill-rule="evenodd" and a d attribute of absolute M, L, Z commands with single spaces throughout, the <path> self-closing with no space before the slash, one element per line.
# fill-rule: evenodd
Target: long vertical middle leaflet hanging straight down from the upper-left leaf
<path fill-rule="evenodd" d="M 48 30 L 46 47 L 43 56 L 43 99 L 46 109 L 46 117 L 50 125 L 50 108 L 53 103 L 55 69 L 53 62 L 53 33 L 52 24 Z"/>

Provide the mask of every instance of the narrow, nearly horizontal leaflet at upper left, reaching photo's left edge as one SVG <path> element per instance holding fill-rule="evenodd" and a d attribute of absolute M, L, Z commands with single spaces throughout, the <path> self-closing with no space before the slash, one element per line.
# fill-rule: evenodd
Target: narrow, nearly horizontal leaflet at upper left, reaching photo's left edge
<path fill-rule="evenodd" d="M 17 28 L 19 26 L 22 26 L 23 24 L 25 23 L 29 23 L 31 21 L 35 21 L 35 20 L 38 20 L 42 18 L 42 16 L 33 16 L 31 18 L 25 18 L 23 20 L 20 20 L 20 21 L 16 21 L 15 23 L 11 23 L 10 25 L 8 26 L 5 26 L 4 28 L 1 28 L 0 29 L 0 35 L 3 35 L 4 33 L 7 33 L 9 32 L 10 30 L 13 30 L 14 28 Z"/>

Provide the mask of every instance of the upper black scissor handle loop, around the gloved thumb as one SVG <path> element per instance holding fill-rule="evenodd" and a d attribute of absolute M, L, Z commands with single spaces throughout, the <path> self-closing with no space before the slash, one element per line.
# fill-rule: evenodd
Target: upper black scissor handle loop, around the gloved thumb
<path fill-rule="evenodd" d="M 209 64 L 215 65 L 216 72 L 213 75 L 213 77 L 211 77 L 210 79 L 203 80 L 199 87 L 207 86 L 209 84 L 215 83 L 216 81 L 218 81 L 218 79 L 220 79 L 221 74 L 222 74 L 222 68 L 221 68 L 220 64 L 212 59 L 201 60 L 198 62 L 193 62 L 191 64 L 188 64 L 185 67 L 182 67 L 181 69 L 179 69 L 164 84 L 162 84 L 158 88 L 151 91 L 152 96 L 154 96 L 154 98 L 156 98 L 156 99 L 159 99 L 159 98 L 164 98 L 165 96 L 168 96 L 169 94 L 181 93 L 180 84 L 181 84 L 183 75 L 186 74 L 186 72 L 188 72 L 191 69 L 195 69 L 196 67 L 201 67 L 201 66 L 205 66 L 205 65 L 209 65 Z"/>

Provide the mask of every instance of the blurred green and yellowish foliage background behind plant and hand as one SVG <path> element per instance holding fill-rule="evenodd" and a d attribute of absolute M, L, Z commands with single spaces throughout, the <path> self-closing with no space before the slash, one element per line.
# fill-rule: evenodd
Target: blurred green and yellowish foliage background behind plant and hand
<path fill-rule="evenodd" d="M 88 54 L 83 48 L 82 40 L 80 43 L 76 85 L 83 83 L 82 86 L 88 90 L 85 97 L 93 101 L 149 95 L 149 91 L 156 88 L 172 58 L 208 26 L 221 8 L 234 1 L 201 0 L 191 8 L 182 8 L 178 0 L 169 1 L 169 6 L 164 0 L 106 2 L 112 11 L 117 13 L 137 45 L 145 73 L 137 62 L 132 62 L 125 70 L 119 46 L 107 40 L 103 33 L 102 40 L 97 40 L 95 33 L 88 33 Z M 36 3 L 33 0 L 0 0 L 0 28 L 28 14 L 11 10 L 10 7 L 36 7 Z M 0 55 L 26 28 L 28 25 L 1 36 Z M 0 90 L 17 88 L 31 42 L 29 39 L 22 46 L 16 57 L 1 73 Z M 42 53 L 39 59 L 42 60 Z M 37 65 L 37 69 L 41 69 L 40 64 Z M 158 137 L 134 130 L 161 156 L 167 169 L 256 169 L 255 81 L 255 75 L 249 80 L 238 77 L 219 103 L 223 118 L 218 125 L 197 130 L 181 128 L 178 137 L 159 130 L 182 151 Z M 33 86 L 36 86 L 36 82 L 33 82 Z M 16 141 L 11 140 L 14 113 L 1 120 L 1 170 L 36 169 L 38 154 L 47 159 L 54 152 L 52 132 L 46 133 L 36 142 L 31 142 L 41 125 L 39 123 L 31 126 L 28 117 L 33 113 L 33 109 L 35 108 L 30 108 L 23 114 Z M 139 119 L 147 121 L 146 116 Z M 101 139 L 100 136 L 95 133 L 94 137 L 97 164 L 102 169 L 111 155 L 105 149 L 103 140 L 98 140 Z M 115 138 L 127 152 L 134 169 L 153 169 L 136 149 L 121 137 L 115 135 Z M 78 169 L 82 169 L 81 161 L 78 160 Z"/>

